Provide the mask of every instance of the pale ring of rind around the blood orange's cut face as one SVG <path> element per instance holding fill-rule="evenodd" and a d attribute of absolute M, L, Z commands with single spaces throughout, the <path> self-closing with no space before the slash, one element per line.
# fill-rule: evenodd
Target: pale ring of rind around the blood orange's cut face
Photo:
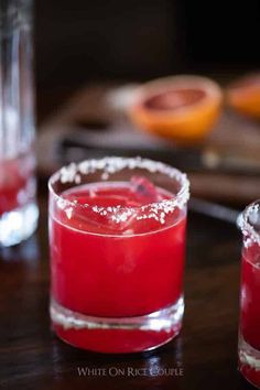
<path fill-rule="evenodd" d="M 180 76 L 169 76 L 158 78 L 152 82 L 148 82 L 140 87 L 137 88 L 136 91 L 136 102 L 133 101 L 130 109 L 134 109 L 134 107 L 142 107 L 143 100 L 150 96 L 151 93 L 163 93 L 165 90 L 170 90 L 171 83 L 174 83 L 173 88 L 186 89 L 186 88 L 194 88 L 194 89 L 203 89 L 205 91 L 205 96 L 199 99 L 197 102 L 180 107 L 174 109 L 174 115 L 177 116 L 178 113 L 183 113 L 183 111 L 191 110 L 191 107 L 197 107 L 205 104 L 205 100 L 208 98 L 217 98 L 219 101 L 221 100 L 221 89 L 218 84 L 210 78 L 203 77 L 203 76 L 195 76 L 195 75 L 180 75 Z M 209 87 L 210 86 L 210 87 Z M 145 109 L 147 110 L 147 109 Z M 172 116 L 173 110 L 165 110 L 156 109 L 156 108 L 149 108 L 150 112 L 153 112 L 158 116 Z"/>

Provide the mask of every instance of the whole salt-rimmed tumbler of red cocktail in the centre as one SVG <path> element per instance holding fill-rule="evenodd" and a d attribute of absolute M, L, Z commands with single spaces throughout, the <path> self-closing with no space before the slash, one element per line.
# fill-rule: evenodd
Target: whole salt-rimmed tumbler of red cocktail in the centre
<path fill-rule="evenodd" d="M 187 186 L 178 171 L 141 159 L 85 162 L 51 178 L 51 317 L 61 338 L 131 353 L 178 334 Z"/>

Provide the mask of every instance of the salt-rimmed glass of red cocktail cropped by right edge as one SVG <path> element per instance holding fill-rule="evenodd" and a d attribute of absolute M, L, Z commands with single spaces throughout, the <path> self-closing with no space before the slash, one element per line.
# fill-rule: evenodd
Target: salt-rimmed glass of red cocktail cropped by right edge
<path fill-rule="evenodd" d="M 260 203 L 242 216 L 239 369 L 260 388 Z"/>

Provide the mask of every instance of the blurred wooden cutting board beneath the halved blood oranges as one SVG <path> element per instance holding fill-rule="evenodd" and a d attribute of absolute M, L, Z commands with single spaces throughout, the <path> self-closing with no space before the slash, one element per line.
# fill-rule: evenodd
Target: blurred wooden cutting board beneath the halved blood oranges
<path fill-rule="evenodd" d="M 136 129 L 123 112 L 134 86 L 94 86 L 76 93 L 41 127 L 39 171 L 50 175 L 71 160 L 93 154 L 123 154 L 136 150 L 161 160 L 180 154 L 166 140 Z M 66 142 L 65 142 L 66 141 Z M 75 143 L 75 145 L 74 145 Z M 66 144 L 66 150 L 64 145 Z M 82 148 L 78 147 L 85 147 Z M 68 148 L 68 150 L 67 150 Z M 225 109 L 210 134 L 197 148 L 201 164 L 191 163 L 191 149 L 182 149 L 180 167 L 187 171 L 194 196 L 247 204 L 260 198 L 260 123 Z M 66 155 L 66 159 L 64 158 Z M 189 164 L 185 165 L 185 161 Z"/>

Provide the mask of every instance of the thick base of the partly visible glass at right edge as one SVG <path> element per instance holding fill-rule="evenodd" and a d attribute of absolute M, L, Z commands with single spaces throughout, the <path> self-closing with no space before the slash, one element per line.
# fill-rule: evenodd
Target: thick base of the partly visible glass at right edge
<path fill-rule="evenodd" d="M 241 375 L 260 389 L 260 350 L 251 347 L 241 335 L 238 343 L 238 359 Z"/>

